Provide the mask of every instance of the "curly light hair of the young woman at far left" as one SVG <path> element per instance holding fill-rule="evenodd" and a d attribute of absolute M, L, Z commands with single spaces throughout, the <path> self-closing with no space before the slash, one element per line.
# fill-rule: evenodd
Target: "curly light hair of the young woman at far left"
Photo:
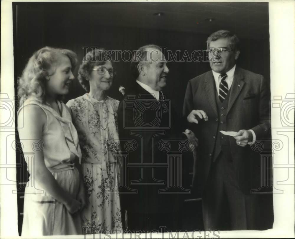
<path fill-rule="evenodd" d="M 36 51 L 29 59 L 22 76 L 18 79 L 18 97 L 24 102 L 29 97 L 34 97 L 40 102 L 45 100 L 45 81 L 49 76 L 48 70 L 60 58 L 60 54 L 70 59 L 72 70 L 77 66 L 77 54 L 68 49 L 43 47 Z M 22 104 L 22 103 L 21 103 Z"/>

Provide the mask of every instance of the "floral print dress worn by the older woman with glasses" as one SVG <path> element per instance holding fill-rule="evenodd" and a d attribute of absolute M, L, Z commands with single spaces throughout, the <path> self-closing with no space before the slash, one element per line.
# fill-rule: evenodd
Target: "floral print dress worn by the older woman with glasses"
<path fill-rule="evenodd" d="M 78 132 L 89 200 L 81 213 L 82 224 L 86 227 L 84 234 L 122 230 L 118 190 L 118 105 L 119 101 L 111 97 L 98 101 L 87 93 L 67 103 Z"/>

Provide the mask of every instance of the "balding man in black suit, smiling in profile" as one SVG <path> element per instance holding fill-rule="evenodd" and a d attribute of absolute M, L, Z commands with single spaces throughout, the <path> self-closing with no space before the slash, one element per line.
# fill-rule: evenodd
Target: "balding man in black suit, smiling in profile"
<path fill-rule="evenodd" d="M 127 180 L 120 190 L 127 229 L 161 232 L 160 227 L 165 227 L 175 231 L 181 226 L 181 195 L 189 193 L 183 188 L 181 153 L 194 150 L 196 140 L 191 131 L 182 134 L 186 119 L 177 120 L 170 100 L 162 93 L 169 69 L 161 49 L 156 45 L 138 49 L 131 70 L 136 82 L 118 108 L 122 150 L 125 142 L 135 145 L 123 162 L 127 170 L 121 175 L 121 182 Z"/>

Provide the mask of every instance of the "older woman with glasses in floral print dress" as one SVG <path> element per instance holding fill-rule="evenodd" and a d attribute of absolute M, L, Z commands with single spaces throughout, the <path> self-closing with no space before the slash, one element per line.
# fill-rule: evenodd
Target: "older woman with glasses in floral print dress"
<path fill-rule="evenodd" d="M 82 174 L 89 200 L 81 215 L 86 227 L 84 234 L 122 230 L 115 157 L 120 147 L 119 101 L 107 95 L 115 74 L 104 49 L 88 52 L 78 72 L 79 82 L 87 93 L 67 103 L 78 131 Z M 115 144 L 112 150 L 108 149 L 108 142 Z"/>

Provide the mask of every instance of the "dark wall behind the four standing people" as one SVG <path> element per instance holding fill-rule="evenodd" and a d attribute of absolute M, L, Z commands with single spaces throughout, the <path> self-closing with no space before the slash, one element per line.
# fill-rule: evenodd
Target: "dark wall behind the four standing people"
<path fill-rule="evenodd" d="M 32 53 L 44 46 L 71 49 L 77 53 L 79 62 L 83 58 L 82 47 L 89 47 L 89 50 L 90 47 L 104 47 L 110 50 L 132 51 L 145 44 L 157 44 L 173 53 L 180 50 L 181 55 L 185 50 L 191 53 L 196 49 L 206 49 L 209 34 L 155 29 L 155 25 L 152 26 L 153 29 L 118 27 L 110 25 L 109 22 L 96 21 L 96 15 L 100 14 L 97 9 L 102 6 L 99 4 L 104 3 L 15 3 L 15 77 L 21 75 Z M 126 4 L 132 8 L 136 3 Z M 198 3 L 195 4 L 197 7 Z M 149 17 L 145 21 L 149 21 Z M 220 24 L 216 23 L 208 25 L 208 28 L 210 32 L 221 29 Z M 223 28 L 233 32 L 241 31 L 238 29 L 238 23 L 223 26 Z M 268 26 L 266 28 L 268 30 Z M 242 68 L 263 74 L 269 80 L 269 35 L 266 34 L 258 39 L 257 36 L 247 35 L 249 29 L 242 30 L 244 37 L 240 37 L 241 53 L 237 64 Z M 116 62 L 114 67 L 117 68 L 117 76 L 109 90 L 109 95 L 120 99 L 119 86 L 128 87 L 134 79 L 130 74 L 129 62 Z M 207 62 L 170 62 L 169 69 L 168 85 L 164 91 L 170 96 L 176 111 L 181 115 L 187 82 L 210 70 L 210 66 Z M 74 74 L 77 75 L 77 70 Z M 78 80 L 75 79 L 66 100 L 84 93 Z"/>

